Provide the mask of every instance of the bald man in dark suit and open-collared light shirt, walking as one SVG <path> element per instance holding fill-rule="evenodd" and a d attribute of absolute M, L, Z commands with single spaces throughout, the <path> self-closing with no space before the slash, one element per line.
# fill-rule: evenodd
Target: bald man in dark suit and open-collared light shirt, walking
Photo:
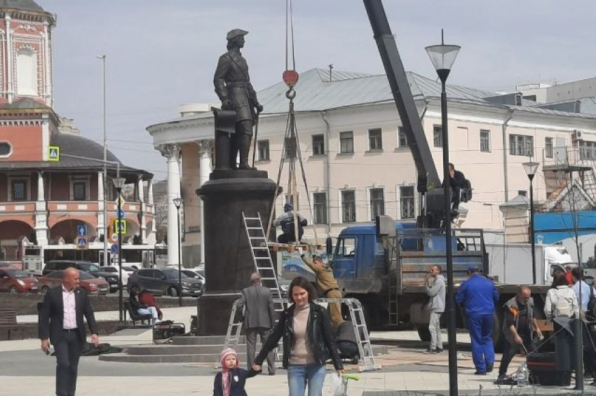
<path fill-rule="evenodd" d="M 62 275 L 62 285 L 46 293 L 39 309 L 41 350 L 49 355 L 51 342 L 56 353 L 57 396 L 74 396 L 76 390 L 79 357 L 86 341 L 83 316 L 91 331 L 91 341 L 95 346 L 100 343 L 93 308 L 85 290 L 78 286 L 79 271 L 68 268 Z"/>

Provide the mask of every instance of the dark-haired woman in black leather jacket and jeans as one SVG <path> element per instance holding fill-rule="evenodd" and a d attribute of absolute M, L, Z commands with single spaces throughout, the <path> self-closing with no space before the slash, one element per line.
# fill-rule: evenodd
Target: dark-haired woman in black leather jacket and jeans
<path fill-rule="evenodd" d="M 322 395 L 327 374 L 325 362 L 330 358 L 338 376 L 344 371 L 329 315 L 327 310 L 313 302 L 315 293 L 306 278 L 299 276 L 292 280 L 288 294 L 293 304 L 281 313 L 278 324 L 252 366 L 260 371 L 267 354 L 283 337 L 283 368 L 287 369 L 290 396 L 304 396 L 307 383 L 309 396 Z"/>

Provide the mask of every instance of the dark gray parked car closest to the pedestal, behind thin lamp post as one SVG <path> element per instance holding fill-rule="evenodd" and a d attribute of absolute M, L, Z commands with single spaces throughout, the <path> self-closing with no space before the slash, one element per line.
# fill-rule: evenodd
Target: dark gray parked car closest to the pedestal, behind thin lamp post
<path fill-rule="evenodd" d="M 200 296 L 203 294 L 203 282 L 182 275 L 182 295 Z M 136 289 L 149 290 L 157 295 L 178 296 L 178 270 L 174 268 L 144 268 L 128 277 L 128 292 Z"/>

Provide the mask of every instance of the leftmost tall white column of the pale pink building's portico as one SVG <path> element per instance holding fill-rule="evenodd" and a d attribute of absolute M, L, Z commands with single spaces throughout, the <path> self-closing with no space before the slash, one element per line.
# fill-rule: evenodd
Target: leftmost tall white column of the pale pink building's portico
<path fill-rule="evenodd" d="M 168 265 L 178 264 L 178 211 L 173 200 L 180 198 L 180 146 L 165 144 L 160 147 L 160 151 L 168 160 Z"/>

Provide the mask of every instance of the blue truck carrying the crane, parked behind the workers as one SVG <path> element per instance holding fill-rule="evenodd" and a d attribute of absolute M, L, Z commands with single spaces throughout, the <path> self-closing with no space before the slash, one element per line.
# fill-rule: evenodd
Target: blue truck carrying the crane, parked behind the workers
<path fill-rule="evenodd" d="M 379 235 L 375 224 L 344 228 L 327 254 L 341 292 L 363 303 L 369 329 L 411 323 L 421 340 L 428 341 L 428 297 L 424 275 L 438 264 L 445 271 L 445 233 L 439 229 L 416 228 L 414 223 L 395 224 L 395 235 Z M 466 280 L 467 268 L 475 264 L 489 275 L 489 260 L 480 229 L 452 231 L 454 287 Z M 496 287 L 504 303 L 517 292 L 517 285 Z M 531 286 L 540 318 L 546 286 Z M 501 310 L 495 313 L 495 329 L 500 329 Z M 465 320 L 458 310 L 458 327 Z M 498 339 L 499 331 L 494 332 Z M 498 341 L 498 340 L 497 340 Z"/>

